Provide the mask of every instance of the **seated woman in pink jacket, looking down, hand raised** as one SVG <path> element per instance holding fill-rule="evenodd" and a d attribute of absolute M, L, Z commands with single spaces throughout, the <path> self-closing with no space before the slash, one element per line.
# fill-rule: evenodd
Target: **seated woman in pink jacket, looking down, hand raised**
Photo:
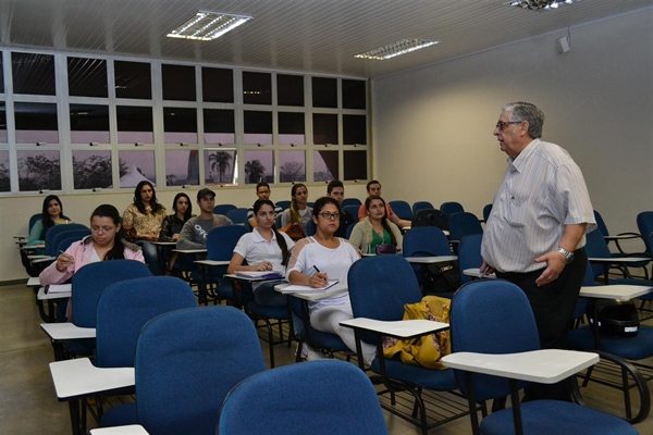
<path fill-rule="evenodd" d="M 41 286 L 62 284 L 86 264 L 123 259 L 145 263 L 140 248 L 123 240 L 118 209 L 111 204 L 102 204 L 90 215 L 90 236 L 72 244 L 56 262 L 40 273 L 39 281 Z M 70 307 L 69 303 L 69 319 L 72 318 Z"/>

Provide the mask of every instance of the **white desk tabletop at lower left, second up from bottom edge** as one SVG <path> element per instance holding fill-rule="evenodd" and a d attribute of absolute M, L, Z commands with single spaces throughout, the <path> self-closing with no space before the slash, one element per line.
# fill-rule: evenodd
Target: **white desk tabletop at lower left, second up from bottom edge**
<path fill-rule="evenodd" d="M 99 369 L 88 358 L 50 362 L 50 374 L 60 400 L 133 386 L 134 368 Z"/>

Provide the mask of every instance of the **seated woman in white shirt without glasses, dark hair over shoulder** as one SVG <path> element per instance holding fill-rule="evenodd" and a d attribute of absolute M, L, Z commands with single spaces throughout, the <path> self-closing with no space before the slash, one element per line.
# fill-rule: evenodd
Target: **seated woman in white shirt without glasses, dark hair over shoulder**
<path fill-rule="evenodd" d="M 227 273 L 238 271 L 280 271 L 285 272 L 288 251 L 295 243 L 274 227 L 276 215 L 274 203 L 269 199 L 259 199 L 254 203 L 254 217 L 257 227 L 245 234 L 234 248 Z M 249 265 L 243 265 L 246 260 Z M 274 286 L 283 281 L 252 283 L 254 300 L 262 306 L 284 307 L 286 296 L 274 291 Z"/>

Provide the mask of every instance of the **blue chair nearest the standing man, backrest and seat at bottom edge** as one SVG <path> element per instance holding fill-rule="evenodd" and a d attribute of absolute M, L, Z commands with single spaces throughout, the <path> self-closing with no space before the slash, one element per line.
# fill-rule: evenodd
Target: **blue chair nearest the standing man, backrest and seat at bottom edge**
<path fill-rule="evenodd" d="M 497 319 L 510 321 L 497 322 Z M 504 355 L 540 349 L 535 320 L 526 295 L 519 287 L 503 279 L 479 279 L 460 287 L 452 301 L 449 323 L 454 353 Z M 472 412 L 470 417 L 473 433 L 484 435 L 638 433 L 629 423 L 616 417 L 576 403 L 532 400 L 519 405 L 518 388 L 525 385 L 521 382 L 465 373 L 460 370 L 454 372 L 460 391 L 468 397 L 470 406 L 481 400 L 513 395 L 512 408 L 486 415 L 480 425 L 478 414 Z M 576 386 L 576 394 L 579 397 L 577 390 Z M 520 419 L 514 418 L 518 410 L 520 410 Z"/>

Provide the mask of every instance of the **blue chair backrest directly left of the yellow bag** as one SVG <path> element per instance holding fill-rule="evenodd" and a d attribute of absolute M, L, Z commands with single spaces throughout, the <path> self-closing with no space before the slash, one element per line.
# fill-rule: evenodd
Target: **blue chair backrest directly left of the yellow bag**
<path fill-rule="evenodd" d="M 422 298 L 412 268 L 401 256 L 366 257 L 356 261 L 349 268 L 347 285 L 354 318 L 402 320 L 404 304 Z M 361 334 L 367 343 L 375 343 L 373 337 Z"/>

